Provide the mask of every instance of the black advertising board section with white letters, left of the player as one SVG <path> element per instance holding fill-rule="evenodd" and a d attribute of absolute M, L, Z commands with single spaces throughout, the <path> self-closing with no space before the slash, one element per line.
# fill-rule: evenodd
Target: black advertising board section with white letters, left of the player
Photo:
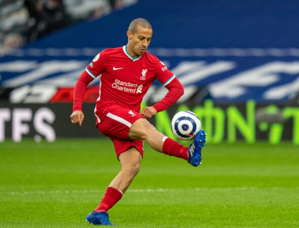
<path fill-rule="evenodd" d="M 94 104 L 84 104 L 83 108 L 85 121 L 79 127 L 70 122 L 71 103 L 0 103 L 0 141 L 5 138 L 21 141 L 23 137 L 54 141 L 58 137 L 101 136 L 95 128 Z"/>

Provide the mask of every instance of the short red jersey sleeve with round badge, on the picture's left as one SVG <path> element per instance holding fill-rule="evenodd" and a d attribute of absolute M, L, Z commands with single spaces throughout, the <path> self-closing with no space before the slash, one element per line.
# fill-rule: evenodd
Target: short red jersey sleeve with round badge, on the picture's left
<path fill-rule="evenodd" d="M 98 77 L 105 69 L 106 62 L 106 52 L 105 50 L 98 53 L 93 60 L 89 63 L 89 65 L 85 68 L 85 71 L 95 79 Z"/>

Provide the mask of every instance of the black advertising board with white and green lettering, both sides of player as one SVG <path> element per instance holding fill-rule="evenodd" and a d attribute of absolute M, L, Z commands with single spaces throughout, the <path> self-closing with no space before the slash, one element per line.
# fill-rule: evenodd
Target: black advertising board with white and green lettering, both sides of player
<path fill-rule="evenodd" d="M 257 106 L 254 101 L 240 105 L 215 105 L 206 100 L 192 107 L 175 104 L 149 121 L 173 138 L 170 122 L 174 113 L 180 110 L 191 110 L 199 116 L 202 129 L 208 133 L 211 143 L 233 143 L 241 139 L 248 143 L 267 140 L 276 144 L 289 140 L 299 145 L 298 106 Z M 36 141 L 43 138 L 54 141 L 58 137 L 103 137 L 95 127 L 93 103 L 83 105 L 85 120 L 82 127 L 71 124 L 71 111 L 71 103 L 0 103 L 0 141 L 8 138 L 21 141 L 23 137 L 32 137 Z"/>

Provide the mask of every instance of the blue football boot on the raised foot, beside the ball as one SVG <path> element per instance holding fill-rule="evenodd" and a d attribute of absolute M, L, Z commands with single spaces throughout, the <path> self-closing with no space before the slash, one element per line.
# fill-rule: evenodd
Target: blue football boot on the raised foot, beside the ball
<path fill-rule="evenodd" d="M 193 166 L 198 166 L 201 164 L 201 149 L 207 141 L 206 135 L 207 134 L 204 132 L 204 130 L 200 130 L 196 134 L 193 143 L 191 143 L 188 148 L 188 162 Z"/>

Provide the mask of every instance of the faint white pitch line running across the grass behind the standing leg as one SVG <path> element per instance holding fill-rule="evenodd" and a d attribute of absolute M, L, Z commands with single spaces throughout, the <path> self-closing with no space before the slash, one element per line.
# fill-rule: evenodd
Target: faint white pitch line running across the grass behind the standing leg
<path fill-rule="evenodd" d="M 161 192 L 185 192 L 185 191 L 247 191 L 247 190 L 256 190 L 256 189 L 265 189 L 265 190 L 278 190 L 278 189 L 299 189 L 299 186 L 297 187 L 254 187 L 254 186 L 244 186 L 244 187 L 196 187 L 196 188 L 145 188 L 145 189 L 128 189 L 127 192 L 131 193 L 161 193 Z M 52 190 L 52 191 L 15 191 L 15 192 L 0 192 L 0 195 L 8 194 L 8 195 L 33 195 L 33 194 L 39 194 L 39 195 L 49 195 L 49 194 L 86 194 L 86 193 L 102 193 L 105 190 L 102 189 L 86 189 L 86 190 Z"/>

